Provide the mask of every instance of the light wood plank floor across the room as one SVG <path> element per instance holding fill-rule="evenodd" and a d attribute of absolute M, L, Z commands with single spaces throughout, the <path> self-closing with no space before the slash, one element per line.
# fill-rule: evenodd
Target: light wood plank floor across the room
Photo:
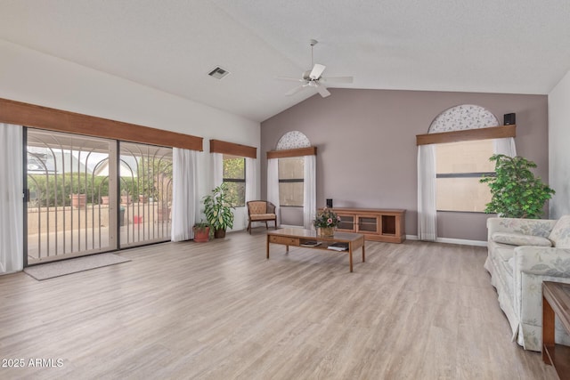
<path fill-rule="evenodd" d="M 0 378 L 555 379 L 510 341 L 486 248 L 272 245 L 265 229 L 166 243 L 42 282 L 0 276 Z"/>

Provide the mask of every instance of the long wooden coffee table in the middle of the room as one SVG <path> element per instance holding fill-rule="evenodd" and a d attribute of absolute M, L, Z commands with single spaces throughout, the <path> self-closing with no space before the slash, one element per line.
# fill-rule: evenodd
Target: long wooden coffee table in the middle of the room
<path fill-rule="evenodd" d="M 307 247 L 310 242 L 318 242 L 319 245 Z M 289 253 L 289 246 L 304 247 L 309 249 L 328 250 L 330 252 L 339 252 L 348 254 L 348 262 L 350 271 L 353 271 L 353 252 L 362 247 L 362 263 L 366 261 L 364 253 L 364 235 L 362 233 L 351 232 L 335 232 L 332 237 L 319 236 L 315 230 L 305 230 L 297 228 L 286 228 L 281 230 L 272 230 L 267 232 L 267 259 L 269 259 L 269 244 L 281 244 L 286 246 L 286 252 Z M 344 251 L 336 251 L 329 248 L 335 243 L 345 243 L 347 249 Z"/>

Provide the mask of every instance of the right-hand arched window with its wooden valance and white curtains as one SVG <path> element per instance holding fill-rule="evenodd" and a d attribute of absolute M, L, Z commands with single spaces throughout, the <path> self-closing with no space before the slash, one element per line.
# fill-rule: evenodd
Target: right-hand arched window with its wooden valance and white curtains
<path fill-rule="evenodd" d="M 488 195 L 478 179 L 494 169 L 486 161 L 493 153 L 516 155 L 515 125 L 497 125 L 487 109 L 463 104 L 444 110 L 428 134 L 416 136 L 419 239 L 437 239 L 436 210 L 483 211 Z M 480 130 L 462 132 L 474 129 Z"/>

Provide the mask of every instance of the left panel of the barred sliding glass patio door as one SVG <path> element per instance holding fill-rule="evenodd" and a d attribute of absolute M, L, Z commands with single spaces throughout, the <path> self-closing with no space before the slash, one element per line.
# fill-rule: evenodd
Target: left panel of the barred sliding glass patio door
<path fill-rule="evenodd" d="M 100 172 L 113 166 L 116 142 L 31 128 L 27 136 L 28 263 L 113 249 L 116 175 Z"/>

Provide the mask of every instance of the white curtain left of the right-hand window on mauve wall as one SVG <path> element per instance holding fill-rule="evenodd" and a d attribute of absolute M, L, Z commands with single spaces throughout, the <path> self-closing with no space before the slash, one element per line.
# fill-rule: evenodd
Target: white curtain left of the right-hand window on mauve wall
<path fill-rule="evenodd" d="M 436 241 L 436 147 L 418 146 L 418 239 Z"/>

